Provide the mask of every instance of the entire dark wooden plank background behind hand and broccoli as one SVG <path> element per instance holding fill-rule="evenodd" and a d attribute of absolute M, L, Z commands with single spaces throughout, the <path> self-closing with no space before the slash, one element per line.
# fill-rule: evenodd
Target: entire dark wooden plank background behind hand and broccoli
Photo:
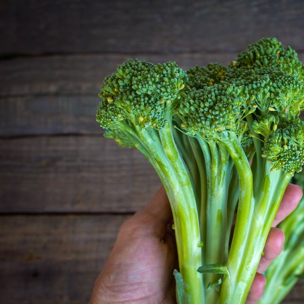
<path fill-rule="evenodd" d="M 160 186 L 95 122 L 119 63 L 228 64 L 263 36 L 304 61 L 303 29 L 302 0 L 2 0 L 0 304 L 87 303 L 119 226 Z M 304 284 L 284 303 L 304 303 Z"/>

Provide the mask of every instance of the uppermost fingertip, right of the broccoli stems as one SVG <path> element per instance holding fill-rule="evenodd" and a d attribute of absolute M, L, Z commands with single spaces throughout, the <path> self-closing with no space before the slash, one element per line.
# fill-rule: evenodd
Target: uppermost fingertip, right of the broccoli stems
<path fill-rule="evenodd" d="M 302 198 L 302 189 L 298 185 L 289 184 L 286 188 L 272 227 L 284 220 L 298 205 Z"/>

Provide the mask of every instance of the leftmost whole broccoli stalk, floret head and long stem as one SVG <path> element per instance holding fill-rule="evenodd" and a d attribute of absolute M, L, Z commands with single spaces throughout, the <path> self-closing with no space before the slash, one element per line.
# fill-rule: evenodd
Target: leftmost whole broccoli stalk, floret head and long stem
<path fill-rule="evenodd" d="M 185 78 L 185 72 L 175 63 L 154 66 L 128 60 L 101 88 L 103 101 L 97 120 L 107 128 L 107 137 L 125 146 L 135 146 L 158 173 L 173 214 L 183 280 L 181 298 L 185 303 L 200 303 L 204 290 L 202 275 L 197 272 L 202 265 L 202 250 L 196 198 L 172 126 Z"/>

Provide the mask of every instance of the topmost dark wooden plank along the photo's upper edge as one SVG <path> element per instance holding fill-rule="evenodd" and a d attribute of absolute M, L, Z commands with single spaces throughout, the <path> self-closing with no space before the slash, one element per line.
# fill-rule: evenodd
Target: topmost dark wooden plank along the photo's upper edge
<path fill-rule="evenodd" d="M 299 0 L 4 0 L 0 54 L 238 51 L 262 36 L 303 50 L 303 14 Z"/>

